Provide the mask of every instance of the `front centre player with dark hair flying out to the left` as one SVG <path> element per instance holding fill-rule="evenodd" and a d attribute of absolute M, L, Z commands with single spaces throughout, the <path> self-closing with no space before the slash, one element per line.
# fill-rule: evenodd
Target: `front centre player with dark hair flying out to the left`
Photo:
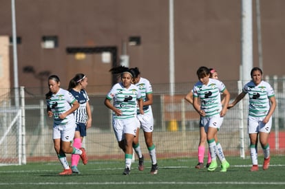
<path fill-rule="evenodd" d="M 118 146 L 125 153 L 125 170 L 123 175 L 129 175 L 133 157 L 133 141 L 138 123 L 136 120 L 137 104 L 143 114 L 142 98 L 138 87 L 131 84 L 133 75 L 128 68 L 113 68 L 112 74 L 120 74 L 121 82 L 115 84 L 107 93 L 104 104 L 113 111 L 113 129 Z M 113 100 L 113 104 L 111 103 Z M 137 102 L 138 101 L 138 102 Z"/>

